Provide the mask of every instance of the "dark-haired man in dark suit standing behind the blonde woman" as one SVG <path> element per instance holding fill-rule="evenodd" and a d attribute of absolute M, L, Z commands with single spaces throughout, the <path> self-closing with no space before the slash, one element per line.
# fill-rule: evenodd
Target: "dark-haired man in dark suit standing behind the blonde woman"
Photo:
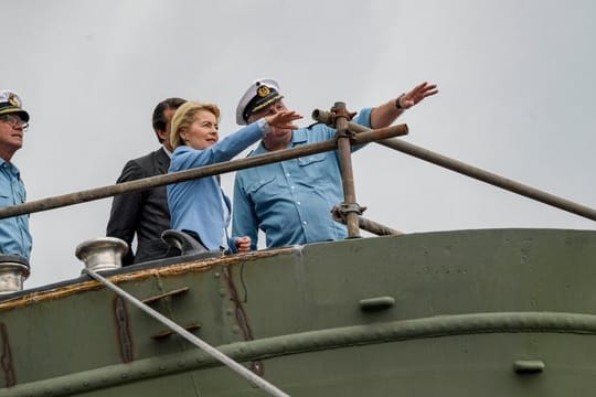
<path fill-rule="evenodd" d="M 157 105 L 153 110 L 153 130 L 162 147 L 128 161 L 117 183 L 168 173 L 172 153 L 170 124 L 175 109 L 184 103 L 181 98 L 168 98 Z M 128 266 L 170 256 L 168 246 L 161 240 L 161 233 L 169 228 L 166 186 L 159 186 L 115 196 L 106 235 L 121 238 L 128 244 L 129 250 L 123 258 L 123 265 Z M 132 254 L 135 235 L 137 251 Z"/>

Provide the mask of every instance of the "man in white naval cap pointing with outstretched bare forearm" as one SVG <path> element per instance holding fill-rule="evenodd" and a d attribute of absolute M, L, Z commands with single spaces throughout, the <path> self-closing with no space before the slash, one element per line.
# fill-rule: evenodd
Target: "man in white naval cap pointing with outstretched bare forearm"
<path fill-rule="evenodd" d="M 352 121 L 369 128 L 389 127 L 406 109 L 437 93 L 436 85 L 422 83 L 377 107 L 360 110 Z M 277 82 L 260 78 L 242 96 L 236 122 L 246 125 L 286 109 Z M 249 155 L 334 137 L 336 130 L 322 124 L 297 130 L 274 129 Z M 241 170 L 234 183 L 233 235 L 249 236 L 253 249 L 257 247 L 259 229 L 266 235 L 268 248 L 345 238 L 345 226 L 331 216 L 331 208 L 341 202 L 337 151 Z"/>

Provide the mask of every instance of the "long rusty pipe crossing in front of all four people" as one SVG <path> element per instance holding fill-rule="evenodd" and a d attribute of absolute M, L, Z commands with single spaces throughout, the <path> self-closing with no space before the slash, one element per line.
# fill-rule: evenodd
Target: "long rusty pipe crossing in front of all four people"
<path fill-rule="evenodd" d="M 354 144 L 362 144 L 380 139 L 396 137 L 407 133 L 406 125 L 397 125 L 377 130 L 369 130 L 368 133 L 359 135 L 354 139 Z M 222 163 L 200 167 L 192 170 L 168 173 L 164 175 L 150 176 L 141 180 L 118 183 L 114 185 L 91 189 L 86 191 L 58 195 L 54 197 L 42 198 L 24 204 L 13 205 L 0 210 L 0 219 L 22 215 L 32 214 L 52 208 L 60 208 L 73 204 L 91 202 L 99 198 L 105 198 L 123 193 L 137 192 L 146 189 L 163 186 L 171 183 L 184 182 L 198 178 L 211 176 L 221 173 L 243 170 L 252 167 L 268 164 L 272 162 L 296 159 L 302 155 L 321 153 L 324 151 L 334 150 L 337 142 L 329 140 L 320 143 L 312 143 L 299 148 L 279 150 L 266 154 L 253 155 L 246 159 L 231 160 Z"/>

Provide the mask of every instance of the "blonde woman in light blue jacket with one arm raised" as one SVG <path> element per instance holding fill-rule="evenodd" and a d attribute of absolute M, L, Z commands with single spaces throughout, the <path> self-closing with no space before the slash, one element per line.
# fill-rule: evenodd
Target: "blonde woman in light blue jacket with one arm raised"
<path fill-rule="evenodd" d="M 170 142 L 174 149 L 169 172 L 224 162 L 277 130 L 296 129 L 295 111 L 280 111 L 258 119 L 220 141 L 220 108 L 189 101 L 172 118 Z M 168 185 L 171 226 L 193 236 L 207 250 L 248 251 L 249 237 L 228 237 L 230 198 L 216 176 Z"/>

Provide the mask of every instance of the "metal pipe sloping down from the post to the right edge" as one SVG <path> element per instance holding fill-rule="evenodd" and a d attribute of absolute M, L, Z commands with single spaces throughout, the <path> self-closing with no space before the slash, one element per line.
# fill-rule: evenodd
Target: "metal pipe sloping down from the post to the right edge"
<path fill-rule="evenodd" d="M 317 109 L 312 112 L 312 117 L 315 118 L 315 120 L 324 122 L 324 124 L 328 124 L 331 120 L 331 114 L 326 110 Z M 349 122 L 348 128 L 350 128 L 350 130 L 354 132 L 370 131 L 369 128 L 358 125 L 355 122 L 351 122 L 351 121 Z M 461 174 L 468 175 L 479 181 L 489 183 L 493 186 L 498 186 L 507 191 L 523 195 L 525 197 L 533 198 L 541 203 L 552 205 L 560 210 L 567 211 L 575 215 L 579 215 L 588 219 L 596 221 L 596 210 L 594 208 L 574 203 L 563 197 L 558 197 L 554 194 L 546 193 L 544 191 L 534 189 L 523 183 L 512 181 L 510 179 L 500 176 L 496 173 L 485 171 L 477 167 L 473 167 L 465 162 L 448 158 L 446 155 L 433 152 L 430 150 L 417 147 L 415 144 L 405 142 L 403 140 L 386 139 L 377 143 L 383 144 L 387 148 L 392 148 L 394 150 L 401 151 L 403 153 L 413 155 L 415 158 L 426 160 L 428 162 L 444 167 L 451 171 L 459 172 Z"/>

